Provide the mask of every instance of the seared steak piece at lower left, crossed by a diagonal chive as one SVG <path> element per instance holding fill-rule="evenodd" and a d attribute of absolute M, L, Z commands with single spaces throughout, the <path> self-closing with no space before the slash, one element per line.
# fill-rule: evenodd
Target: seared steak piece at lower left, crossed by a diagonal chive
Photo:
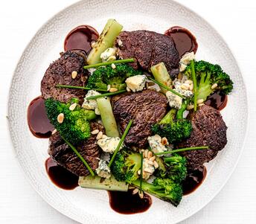
<path fill-rule="evenodd" d="M 104 132 L 103 126 L 96 122 L 91 123 L 91 130 L 94 129 Z M 76 147 L 81 156 L 89 163 L 92 170 L 97 169 L 101 152 L 100 147 L 97 145 L 96 136 L 97 135 L 91 135 L 87 141 L 84 141 Z M 68 144 L 65 143 L 58 132 L 51 135 L 48 154 L 57 164 L 60 164 L 77 176 L 89 175 L 89 170 L 87 170 L 86 166 L 80 161 L 73 150 L 68 147 Z"/>

